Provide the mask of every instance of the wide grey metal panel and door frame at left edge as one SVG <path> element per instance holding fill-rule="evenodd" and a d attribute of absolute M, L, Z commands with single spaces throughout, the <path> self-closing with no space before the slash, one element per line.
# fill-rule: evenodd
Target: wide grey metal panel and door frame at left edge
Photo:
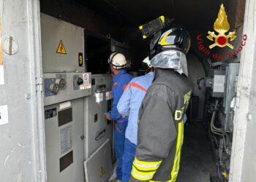
<path fill-rule="evenodd" d="M 1 180 L 46 181 L 39 0 L 0 3 L 2 35 L 20 46 L 17 55 L 4 54 L 7 82 L 0 87 L 0 105 L 8 105 L 10 117 L 0 127 L 0 160 L 6 157 Z"/>

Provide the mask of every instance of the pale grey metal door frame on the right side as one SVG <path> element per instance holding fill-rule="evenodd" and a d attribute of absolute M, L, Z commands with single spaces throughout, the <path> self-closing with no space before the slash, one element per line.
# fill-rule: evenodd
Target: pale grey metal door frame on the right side
<path fill-rule="evenodd" d="M 229 181 L 255 181 L 256 178 L 256 1 L 246 0 L 244 34 L 246 46 L 241 53 L 236 115 Z"/>

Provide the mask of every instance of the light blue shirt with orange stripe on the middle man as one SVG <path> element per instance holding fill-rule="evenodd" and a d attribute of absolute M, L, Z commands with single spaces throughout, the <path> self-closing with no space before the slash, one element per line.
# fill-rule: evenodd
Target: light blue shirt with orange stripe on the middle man
<path fill-rule="evenodd" d="M 127 89 L 121 96 L 117 108 L 119 114 L 128 118 L 125 138 L 137 145 L 138 113 L 148 87 L 153 81 L 154 73 L 150 72 L 145 76 L 138 76 L 129 82 Z"/>

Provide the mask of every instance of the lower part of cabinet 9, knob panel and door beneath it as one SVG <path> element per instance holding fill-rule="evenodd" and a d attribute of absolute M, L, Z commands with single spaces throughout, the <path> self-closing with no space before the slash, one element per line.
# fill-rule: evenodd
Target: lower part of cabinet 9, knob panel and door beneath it
<path fill-rule="evenodd" d="M 65 85 L 61 87 L 58 83 L 60 75 L 65 78 Z M 84 98 L 91 95 L 91 74 L 44 74 L 44 82 L 48 181 L 82 182 Z M 53 90 L 51 85 L 59 89 Z"/>

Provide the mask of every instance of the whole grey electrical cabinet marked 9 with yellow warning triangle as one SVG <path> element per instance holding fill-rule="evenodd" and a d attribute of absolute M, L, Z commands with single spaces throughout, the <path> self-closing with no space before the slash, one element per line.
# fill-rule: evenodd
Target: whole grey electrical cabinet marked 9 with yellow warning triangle
<path fill-rule="evenodd" d="M 83 63 L 83 28 L 41 14 L 48 182 L 84 182 L 84 100 L 91 73 Z"/>

